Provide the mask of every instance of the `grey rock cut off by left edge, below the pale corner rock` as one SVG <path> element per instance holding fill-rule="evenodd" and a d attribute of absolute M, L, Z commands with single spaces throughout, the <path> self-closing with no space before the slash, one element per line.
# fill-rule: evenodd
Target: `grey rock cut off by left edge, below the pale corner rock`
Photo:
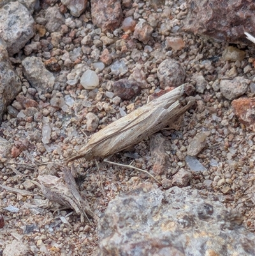
<path fill-rule="evenodd" d="M 6 44 L 0 38 L 0 123 L 7 106 L 20 91 L 20 78 L 10 64 Z"/>

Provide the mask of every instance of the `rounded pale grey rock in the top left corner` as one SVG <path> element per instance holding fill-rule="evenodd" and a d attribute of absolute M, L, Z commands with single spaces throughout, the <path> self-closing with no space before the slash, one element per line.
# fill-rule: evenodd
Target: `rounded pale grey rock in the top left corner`
<path fill-rule="evenodd" d="M 10 2 L 0 9 L 0 36 L 10 56 L 16 54 L 34 36 L 34 19 L 19 2 Z"/>

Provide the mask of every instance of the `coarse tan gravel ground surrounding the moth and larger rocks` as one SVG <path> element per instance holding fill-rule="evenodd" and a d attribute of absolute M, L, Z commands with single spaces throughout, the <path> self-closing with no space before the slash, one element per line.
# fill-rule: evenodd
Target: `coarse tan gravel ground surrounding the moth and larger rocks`
<path fill-rule="evenodd" d="M 13 237 L 17 241 L 21 239 L 29 248 L 24 255 L 92 255 L 98 244 L 96 223 L 108 202 L 139 183 L 155 183 L 147 174 L 136 170 L 99 162 L 99 172 L 93 161 L 75 161 L 73 165 L 79 190 L 87 197 L 96 215 L 92 227 L 89 223 L 82 224 L 80 217 L 71 210 L 57 209 L 53 204 L 48 204 L 40 189 L 29 180 L 37 181 L 37 177 L 43 174 L 59 176 L 54 164 L 39 164 L 62 162 L 85 144 L 91 133 L 147 103 L 148 96 L 160 89 L 157 68 L 168 58 L 180 63 L 186 70 L 184 82 L 196 85 L 197 91 L 197 107 L 186 113 L 179 131 L 162 132 L 171 142 L 167 151 L 171 173 L 179 170 L 191 172 L 191 188 L 197 188 L 203 195 L 215 195 L 227 207 L 238 209 L 244 216 L 247 230 L 255 231 L 255 135 L 234 116 L 231 101 L 224 98 L 219 85 L 224 77 L 238 76 L 252 81 L 255 77 L 252 52 L 243 48 L 245 58 L 242 61 L 226 61 L 221 56 L 228 45 L 183 33 L 182 20 L 187 13 L 183 1 L 166 1 L 162 6 L 160 1 L 130 2 L 129 5 L 129 1 L 123 1 L 124 17 L 132 17 L 136 24 L 139 19 L 147 20 L 153 28 L 145 44 L 146 38 L 143 42 L 133 39 L 135 33 L 132 28 L 131 31 L 126 28 L 124 31 L 120 27 L 113 33 L 102 33 L 92 24 L 89 9 L 81 17 L 75 18 L 61 3 L 52 4 L 64 13 L 62 35 L 57 43 L 51 41 L 44 50 L 36 49 L 29 54 L 41 57 L 46 66 L 51 63 L 50 58 L 55 57 L 55 66 L 62 71 L 54 73 L 57 83 L 52 93 L 38 94 L 29 86 L 21 72 L 21 62 L 28 56 L 25 50 L 11 59 L 22 78 L 20 95 L 29 95 L 27 98 L 36 101 L 37 105 L 35 107 L 33 102 L 29 102 L 29 110 L 36 108 L 33 114 L 29 114 L 22 110 L 24 99 L 16 99 L 12 103 L 12 110 L 18 114 L 11 114 L 9 109 L 0 126 L 0 135 L 11 143 L 13 156 L 0 163 L 0 184 L 29 192 L 21 194 L 0 188 L 0 209 L 5 222 L 3 229 L 0 229 L 0 255 Z M 41 11 L 43 9 L 33 14 L 37 24 L 40 24 Z M 47 44 L 50 38 L 58 40 L 56 34 L 46 32 L 39 36 L 39 32 L 31 44 L 36 41 L 41 45 Z M 173 38 L 174 43 L 168 38 Z M 29 44 L 26 45 L 27 49 Z M 110 51 L 115 66 L 107 59 L 108 55 L 106 58 L 101 56 L 105 49 Z M 88 68 L 99 77 L 96 89 L 86 90 L 78 82 L 77 77 Z M 120 69 L 122 71 L 119 73 Z M 199 79 L 197 74 L 200 75 Z M 129 100 L 113 96 L 113 82 L 129 77 L 141 82 L 140 93 Z M 254 95 L 251 85 L 246 94 Z M 88 112 L 94 113 L 94 116 L 86 119 Z M 43 129 L 46 131 L 44 134 Z M 189 169 L 185 158 L 191 140 L 201 132 L 207 136 L 207 143 L 197 158 L 206 170 L 196 172 Z M 149 139 L 112 158 L 114 162 L 126 164 L 133 160 L 136 167 L 154 173 Z M 31 163 L 33 167 L 29 165 Z M 164 179 L 166 183 L 171 181 L 170 174 L 157 175 L 156 178 L 159 181 Z M 4 209 L 8 206 L 17 209 Z"/>

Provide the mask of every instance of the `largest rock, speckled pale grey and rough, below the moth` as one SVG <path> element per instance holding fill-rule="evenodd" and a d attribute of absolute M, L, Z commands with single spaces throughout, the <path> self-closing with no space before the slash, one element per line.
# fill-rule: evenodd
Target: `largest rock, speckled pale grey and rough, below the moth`
<path fill-rule="evenodd" d="M 98 256 L 255 255 L 242 216 L 190 187 L 145 183 L 112 200 L 98 225 Z"/>

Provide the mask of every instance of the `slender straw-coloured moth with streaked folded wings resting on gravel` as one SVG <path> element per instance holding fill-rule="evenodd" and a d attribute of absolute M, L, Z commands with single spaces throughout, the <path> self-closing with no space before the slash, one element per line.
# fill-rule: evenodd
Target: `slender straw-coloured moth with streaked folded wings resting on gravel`
<path fill-rule="evenodd" d="M 190 89 L 188 86 L 183 84 L 94 133 L 66 163 L 83 157 L 87 160 L 105 158 L 173 124 L 194 103 L 190 101 L 183 106 L 179 101 Z"/>

